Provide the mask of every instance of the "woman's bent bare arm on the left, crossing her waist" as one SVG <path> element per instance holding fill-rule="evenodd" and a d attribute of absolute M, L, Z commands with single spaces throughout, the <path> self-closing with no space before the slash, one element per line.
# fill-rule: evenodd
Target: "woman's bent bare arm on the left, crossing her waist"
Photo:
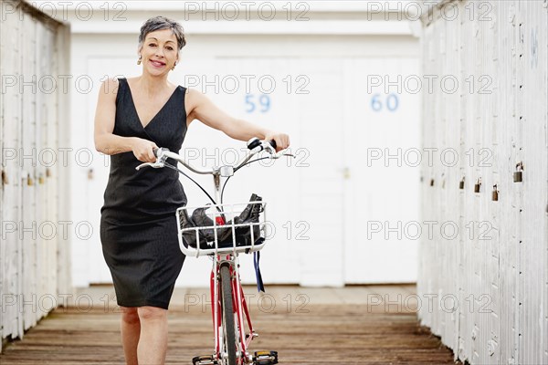
<path fill-rule="evenodd" d="M 121 137 L 113 134 L 116 117 L 116 93 L 118 80 L 107 79 L 100 85 L 97 109 L 95 110 L 95 130 L 93 133 L 95 149 L 104 154 L 117 154 L 132 151 L 141 162 L 155 162 L 153 141 L 138 137 Z"/>

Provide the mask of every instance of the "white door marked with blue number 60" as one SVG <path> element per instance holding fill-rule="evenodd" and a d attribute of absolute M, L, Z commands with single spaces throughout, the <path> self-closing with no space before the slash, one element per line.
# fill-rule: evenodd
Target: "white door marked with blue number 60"
<path fill-rule="evenodd" d="M 344 69 L 344 282 L 415 282 L 418 60 L 356 58 Z"/>

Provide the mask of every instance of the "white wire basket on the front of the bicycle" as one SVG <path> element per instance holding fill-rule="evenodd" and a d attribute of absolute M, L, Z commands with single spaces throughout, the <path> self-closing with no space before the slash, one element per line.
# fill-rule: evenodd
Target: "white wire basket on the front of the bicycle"
<path fill-rule="evenodd" d="M 181 207 L 176 211 L 184 255 L 250 253 L 266 243 L 266 203 L 262 201 Z"/>

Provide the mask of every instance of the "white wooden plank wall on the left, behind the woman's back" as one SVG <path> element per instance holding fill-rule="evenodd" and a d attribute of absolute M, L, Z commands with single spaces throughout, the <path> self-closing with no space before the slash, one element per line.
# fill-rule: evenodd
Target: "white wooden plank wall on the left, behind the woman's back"
<path fill-rule="evenodd" d="M 68 220 L 68 171 L 58 155 L 68 100 L 47 83 L 68 73 L 69 33 L 29 5 L 1 5 L 0 339 L 15 339 L 69 293 L 59 224 Z"/>

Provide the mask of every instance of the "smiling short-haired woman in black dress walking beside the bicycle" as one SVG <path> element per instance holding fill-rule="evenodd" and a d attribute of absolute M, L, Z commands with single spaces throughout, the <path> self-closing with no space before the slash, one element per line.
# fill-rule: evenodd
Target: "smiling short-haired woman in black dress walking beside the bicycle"
<path fill-rule="evenodd" d="M 186 203 L 178 173 L 135 166 L 154 162 L 157 147 L 178 152 L 193 120 L 240 141 L 274 140 L 278 150 L 290 144 L 287 134 L 232 118 L 200 92 L 170 83 L 184 45 L 178 23 L 163 16 L 147 20 L 139 36 L 142 75 L 104 81 L 95 114 L 95 147 L 111 155 L 100 238 L 122 311 L 128 364 L 163 364 L 167 309 L 184 262 L 174 215 Z"/>

